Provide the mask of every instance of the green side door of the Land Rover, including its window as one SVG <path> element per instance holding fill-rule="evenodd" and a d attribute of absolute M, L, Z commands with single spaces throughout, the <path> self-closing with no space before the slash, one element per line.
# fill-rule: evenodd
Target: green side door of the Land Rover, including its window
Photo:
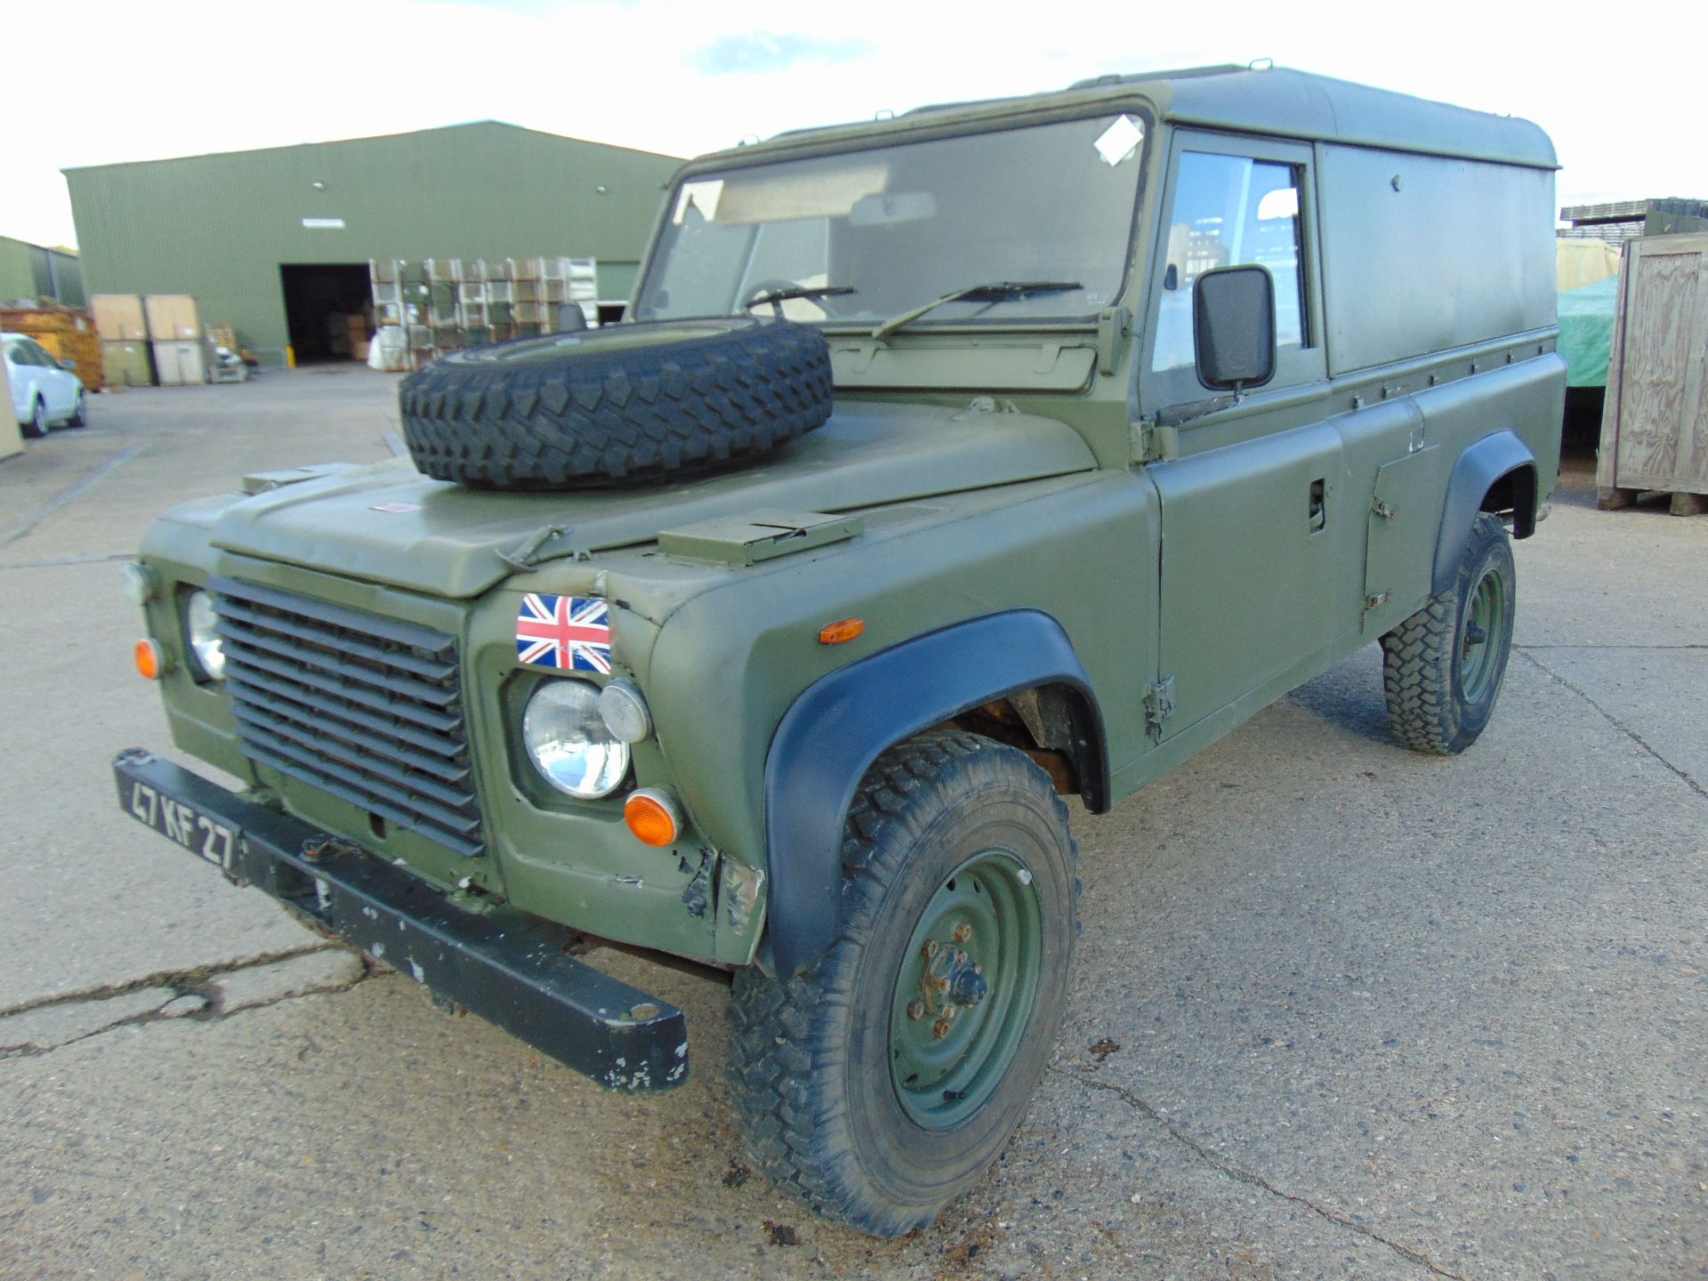
<path fill-rule="evenodd" d="M 1339 430 L 1312 395 L 1327 386 L 1313 203 L 1308 147 L 1175 135 L 1141 372 L 1144 417 L 1179 422 L 1173 456 L 1146 465 L 1161 502 L 1156 680 L 1173 699 L 1161 740 L 1230 707 L 1231 728 L 1308 664 L 1336 632 L 1337 557 L 1363 536 L 1341 507 Z M 1276 376 L 1233 403 L 1197 379 L 1192 282 L 1237 263 L 1274 278 L 1278 354 Z"/>

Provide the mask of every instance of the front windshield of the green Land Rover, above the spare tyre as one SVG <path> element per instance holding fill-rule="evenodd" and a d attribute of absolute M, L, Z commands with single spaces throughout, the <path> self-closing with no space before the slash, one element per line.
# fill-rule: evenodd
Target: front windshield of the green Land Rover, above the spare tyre
<path fill-rule="evenodd" d="M 671 196 L 635 318 L 760 299 L 757 314 L 873 325 L 1006 280 L 1073 287 L 972 294 L 921 325 L 1095 314 L 1120 292 L 1144 135 L 1105 113 L 697 174 Z M 811 295 L 763 302 L 779 290 Z"/>

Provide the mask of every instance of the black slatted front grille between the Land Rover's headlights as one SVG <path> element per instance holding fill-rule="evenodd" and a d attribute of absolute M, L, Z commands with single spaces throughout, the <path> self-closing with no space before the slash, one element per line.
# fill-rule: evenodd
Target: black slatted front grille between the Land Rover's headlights
<path fill-rule="evenodd" d="M 236 579 L 208 591 L 244 755 L 483 852 L 454 637 Z"/>

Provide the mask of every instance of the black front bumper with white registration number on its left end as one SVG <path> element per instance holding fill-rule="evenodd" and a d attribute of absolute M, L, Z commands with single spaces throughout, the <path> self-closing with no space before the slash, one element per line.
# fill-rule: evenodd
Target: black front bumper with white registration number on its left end
<path fill-rule="evenodd" d="M 113 760 L 132 818 L 434 994 L 611 1090 L 688 1079 L 681 1011 L 567 955 L 576 934 L 516 909 L 471 914 L 360 847 L 142 748 Z"/>

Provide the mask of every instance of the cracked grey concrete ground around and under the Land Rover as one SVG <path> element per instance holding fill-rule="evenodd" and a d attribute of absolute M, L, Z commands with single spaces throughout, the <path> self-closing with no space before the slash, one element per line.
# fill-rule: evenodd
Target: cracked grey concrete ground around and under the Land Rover
<path fill-rule="evenodd" d="M 1518 545 L 1518 651 L 1455 760 L 1377 651 L 1102 818 L 1032 1114 L 933 1231 L 779 1197 L 719 1081 L 719 984 L 615 1097 L 149 835 L 166 748 L 118 565 L 244 471 L 386 453 L 395 379 L 92 400 L 0 465 L 3 1278 L 1708 1278 L 1708 518 Z M 603 956 L 603 958 L 601 958 Z"/>

